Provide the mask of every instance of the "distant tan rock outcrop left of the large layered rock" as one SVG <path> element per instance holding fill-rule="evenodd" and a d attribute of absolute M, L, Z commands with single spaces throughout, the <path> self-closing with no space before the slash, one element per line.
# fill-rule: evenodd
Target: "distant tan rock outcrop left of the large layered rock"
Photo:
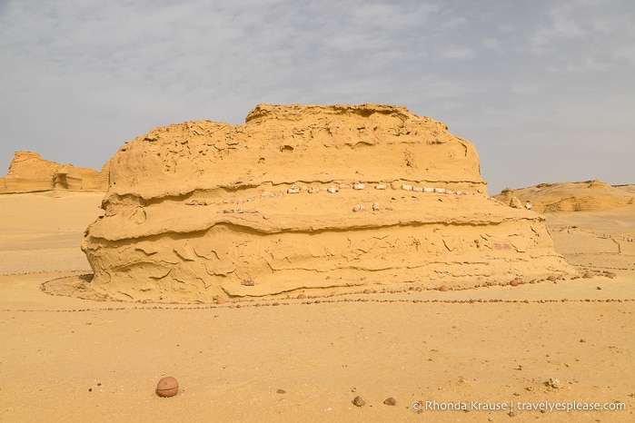
<path fill-rule="evenodd" d="M 36 152 L 15 152 L 5 178 L 0 179 L 0 192 L 38 192 L 53 189 L 70 191 L 105 191 L 108 188 L 108 166 L 101 172 L 49 162 Z"/>

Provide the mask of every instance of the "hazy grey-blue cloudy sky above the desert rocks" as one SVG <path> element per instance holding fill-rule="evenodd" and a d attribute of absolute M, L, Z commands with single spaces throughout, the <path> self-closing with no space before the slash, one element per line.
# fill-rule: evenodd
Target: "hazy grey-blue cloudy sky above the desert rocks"
<path fill-rule="evenodd" d="M 257 103 L 392 103 L 474 143 L 489 192 L 635 183 L 631 0 L 0 0 L 0 175 Z"/>

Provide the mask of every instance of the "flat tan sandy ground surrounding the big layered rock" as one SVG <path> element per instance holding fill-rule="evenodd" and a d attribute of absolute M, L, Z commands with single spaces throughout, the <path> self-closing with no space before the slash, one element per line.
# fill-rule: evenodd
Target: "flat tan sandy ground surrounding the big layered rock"
<path fill-rule="evenodd" d="M 590 279 L 210 306 L 45 292 L 88 279 L 102 197 L 0 195 L 2 422 L 635 421 L 635 206 L 547 216 Z M 625 409 L 549 409 L 586 403 Z"/>

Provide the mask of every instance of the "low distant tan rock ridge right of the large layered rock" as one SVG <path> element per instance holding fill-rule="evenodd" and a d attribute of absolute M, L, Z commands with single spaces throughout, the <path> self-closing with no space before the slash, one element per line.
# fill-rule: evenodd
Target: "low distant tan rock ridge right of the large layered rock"
<path fill-rule="evenodd" d="M 597 180 L 541 183 L 519 190 L 505 188 L 494 197 L 511 207 L 517 207 L 516 202 L 529 202 L 532 210 L 541 213 L 599 212 L 635 205 L 632 185 L 611 186 Z"/>

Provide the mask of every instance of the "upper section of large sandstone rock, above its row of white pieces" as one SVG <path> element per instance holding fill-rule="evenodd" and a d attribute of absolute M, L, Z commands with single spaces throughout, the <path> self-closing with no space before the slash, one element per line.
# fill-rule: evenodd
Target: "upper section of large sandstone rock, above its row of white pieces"
<path fill-rule="evenodd" d="M 126 143 L 110 194 L 144 199 L 297 182 L 403 180 L 485 191 L 473 145 L 389 105 L 259 104 L 243 125 L 171 124 Z"/>

